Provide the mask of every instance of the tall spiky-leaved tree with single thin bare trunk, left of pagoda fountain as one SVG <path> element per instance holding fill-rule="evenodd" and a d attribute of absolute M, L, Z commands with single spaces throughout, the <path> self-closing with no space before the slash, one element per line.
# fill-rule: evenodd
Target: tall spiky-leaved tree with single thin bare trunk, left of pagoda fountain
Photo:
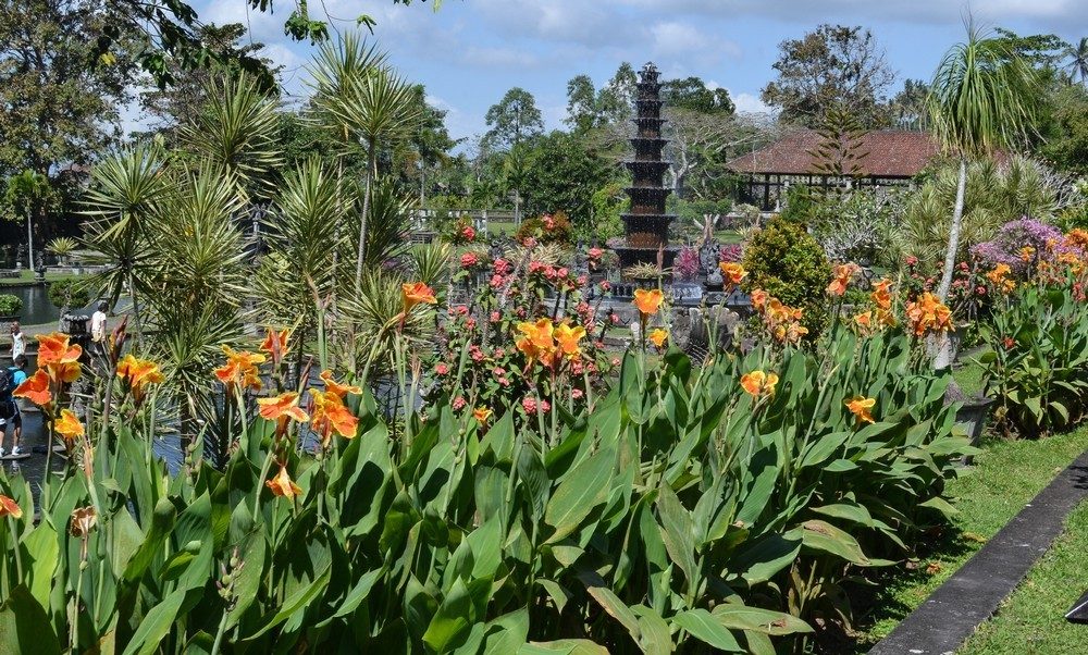
<path fill-rule="evenodd" d="M 336 60 L 334 58 L 341 58 Z M 371 185 L 378 174 L 379 148 L 408 138 L 421 114 L 415 100 L 415 87 L 384 63 L 384 55 L 367 49 L 364 42 L 343 41 L 338 48 L 323 49 L 314 66 L 317 94 L 313 106 L 324 122 L 346 137 L 357 138 L 367 152 L 367 172 L 359 222 L 355 286 L 362 285 L 367 251 L 367 222 L 370 213 Z"/>

